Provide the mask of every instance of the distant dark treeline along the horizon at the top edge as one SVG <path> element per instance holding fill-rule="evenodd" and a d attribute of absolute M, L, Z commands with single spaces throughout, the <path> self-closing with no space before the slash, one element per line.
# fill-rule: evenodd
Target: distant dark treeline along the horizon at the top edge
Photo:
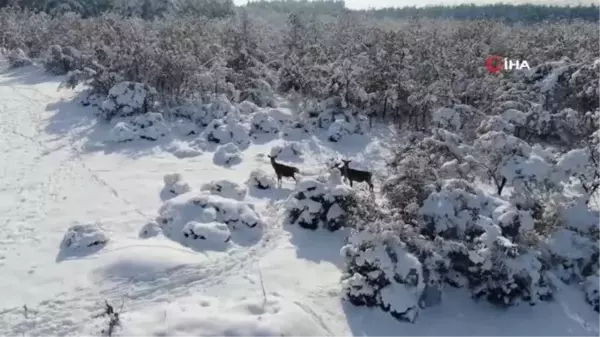
<path fill-rule="evenodd" d="M 125 15 L 153 18 L 166 13 L 201 15 L 210 18 L 226 17 L 234 14 L 232 0 L 0 0 L 0 8 L 19 6 L 34 11 L 51 14 L 76 12 L 84 17 L 97 16 L 108 11 Z M 338 16 L 349 11 L 343 0 L 258 0 L 251 1 L 249 9 L 270 10 L 279 13 L 325 14 Z M 487 19 L 504 22 L 535 23 L 548 20 L 600 19 L 600 7 L 591 6 L 550 6 L 550 5 L 475 5 L 427 6 L 383 8 L 356 11 L 375 18 L 409 19 Z"/>

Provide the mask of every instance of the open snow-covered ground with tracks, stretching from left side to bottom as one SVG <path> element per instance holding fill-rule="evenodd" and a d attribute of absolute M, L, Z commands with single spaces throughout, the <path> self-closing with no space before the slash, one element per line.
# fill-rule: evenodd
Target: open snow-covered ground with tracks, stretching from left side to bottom
<path fill-rule="evenodd" d="M 74 92 L 57 91 L 61 79 L 33 67 L 0 72 L 0 336 L 99 336 L 106 322 L 94 316 L 105 300 L 122 305 L 120 336 L 600 335 L 600 316 L 568 288 L 553 302 L 506 311 L 447 290 L 414 324 L 344 303 L 344 237 L 283 226 L 282 203 L 294 188 L 285 178 L 281 188 L 248 190 L 243 200 L 239 190 L 204 200 L 242 210 L 236 220 L 252 240 L 235 233 L 229 240 L 227 227 L 201 224 L 188 229 L 220 245 L 154 235 L 148 223 L 159 215 L 175 214 L 170 228 L 184 225 L 194 193 L 213 191 L 207 183 L 245 187 L 253 170 L 274 175 L 266 155 L 283 141 L 252 143 L 231 167 L 216 164 L 214 151 L 185 151 L 194 136 L 101 144 L 108 130 L 92 108 L 72 102 Z M 316 174 L 329 157 L 346 155 L 378 171 L 388 132 L 338 143 L 326 132 L 307 136 L 294 165 Z M 165 186 L 172 173 L 181 179 L 174 188 Z M 178 196 L 182 186 L 191 191 Z M 209 224 L 225 216 L 202 212 Z"/>

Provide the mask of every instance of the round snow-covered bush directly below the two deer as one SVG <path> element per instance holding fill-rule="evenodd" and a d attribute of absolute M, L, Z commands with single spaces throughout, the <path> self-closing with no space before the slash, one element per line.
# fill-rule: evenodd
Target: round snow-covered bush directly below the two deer
<path fill-rule="evenodd" d="M 340 171 L 333 169 L 326 179 L 303 178 L 298 182 L 286 204 L 288 221 L 306 229 L 336 231 L 346 224 L 348 210 L 355 202 L 354 192 L 342 184 Z"/>

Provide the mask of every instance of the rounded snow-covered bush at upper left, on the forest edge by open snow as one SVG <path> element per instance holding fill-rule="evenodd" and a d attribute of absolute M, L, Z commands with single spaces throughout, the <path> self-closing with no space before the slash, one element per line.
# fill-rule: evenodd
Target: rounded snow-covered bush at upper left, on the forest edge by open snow
<path fill-rule="evenodd" d="M 102 102 L 102 117 L 128 117 L 148 112 L 154 106 L 156 90 L 147 84 L 121 82 L 113 86 Z"/>

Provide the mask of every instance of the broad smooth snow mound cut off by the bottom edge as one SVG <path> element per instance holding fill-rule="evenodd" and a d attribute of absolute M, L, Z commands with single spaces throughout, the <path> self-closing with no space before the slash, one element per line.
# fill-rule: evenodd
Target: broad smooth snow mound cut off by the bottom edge
<path fill-rule="evenodd" d="M 123 335 L 129 337 L 327 337 L 319 318 L 294 301 L 268 295 L 220 302 L 190 298 L 128 314 Z M 164 317 L 169 318 L 168 327 Z M 91 330 L 91 329 L 90 329 Z M 97 329 L 96 329 L 97 330 Z M 121 332 L 121 331 L 120 331 Z"/>

